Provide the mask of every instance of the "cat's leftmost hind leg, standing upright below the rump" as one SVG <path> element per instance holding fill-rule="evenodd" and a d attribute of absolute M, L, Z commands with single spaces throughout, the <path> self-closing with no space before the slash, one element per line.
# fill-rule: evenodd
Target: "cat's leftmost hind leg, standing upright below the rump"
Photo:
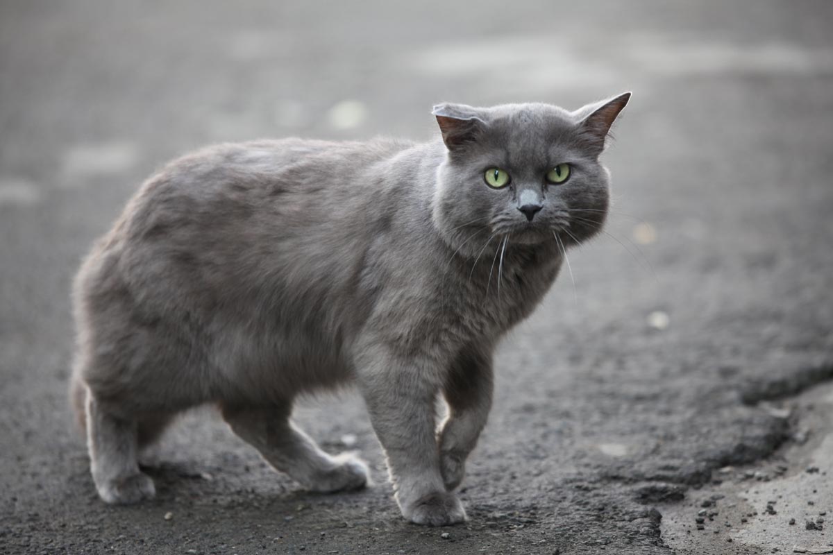
<path fill-rule="evenodd" d="M 87 393 L 87 447 L 92 480 L 107 503 L 137 503 L 156 494 L 137 463 L 137 421 L 107 410 Z"/>

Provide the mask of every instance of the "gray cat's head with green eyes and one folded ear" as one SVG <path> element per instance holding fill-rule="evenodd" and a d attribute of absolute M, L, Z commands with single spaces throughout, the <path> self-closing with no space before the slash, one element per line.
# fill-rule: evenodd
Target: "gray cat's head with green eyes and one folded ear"
<path fill-rule="evenodd" d="M 549 104 L 434 107 L 447 152 L 437 169 L 433 219 L 446 243 L 471 256 L 490 237 L 497 244 L 508 235 L 510 245 L 570 246 L 595 235 L 609 199 L 599 155 L 630 97 L 577 111 Z"/>

